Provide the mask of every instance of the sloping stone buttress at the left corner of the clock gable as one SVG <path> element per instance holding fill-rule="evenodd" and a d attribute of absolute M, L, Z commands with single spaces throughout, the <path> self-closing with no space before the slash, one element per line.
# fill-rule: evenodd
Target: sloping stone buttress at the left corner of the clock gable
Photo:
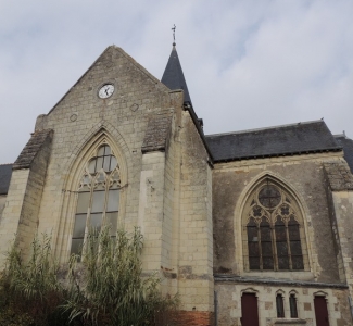
<path fill-rule="evenodd" d="M 51 140 L 51 130 L 34 133 L 13 165 L 7 203 L 0 221 L 0 248 L 3 252 L 15 239 L 24 255 L 28 254 L 30 242 L 38 230 Z M 3 263 L 4 256 L 1 255 L 0 267 Z"/>

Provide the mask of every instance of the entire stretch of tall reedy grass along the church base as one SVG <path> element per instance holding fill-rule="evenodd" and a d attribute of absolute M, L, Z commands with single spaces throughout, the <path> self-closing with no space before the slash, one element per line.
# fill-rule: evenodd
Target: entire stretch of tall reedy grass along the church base
<path fill-rule="evenodd" d="M 109 227 L 90 230 L 83 258 L 71 256 L 66 277 L 58 277 L 50 243 L 46 235 L 36 237 L 28 261 L 15 244 L 8 252 L 0 277 L 1 326 L 155 325 L 156 315 L 177 305 L 176 298 L 161 296 L 155 274 L 142 277 L 138 228 L 115 237 Z"/>

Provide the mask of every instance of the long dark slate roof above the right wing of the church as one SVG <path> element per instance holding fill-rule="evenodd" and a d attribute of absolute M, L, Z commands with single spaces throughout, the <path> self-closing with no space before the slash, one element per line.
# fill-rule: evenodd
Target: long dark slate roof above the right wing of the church
<path fill-rule="evenodd" d="M 206 136 L 215 162 L 340 151 L 324 121 Z"/>

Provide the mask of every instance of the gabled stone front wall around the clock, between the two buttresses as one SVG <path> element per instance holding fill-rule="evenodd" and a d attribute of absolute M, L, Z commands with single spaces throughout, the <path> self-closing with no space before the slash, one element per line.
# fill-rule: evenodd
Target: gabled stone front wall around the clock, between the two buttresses
<path fill-rule="evenodd" d="M 102 100 L 97 93 L 104 83 L 114 84 L 116 90 Z M 70 253 L 78 183 L 97 146 L 106 141 L 119 161 L 123 186 L 119 223 L 130 230 L 139 222 L 141 171 L 154 164 L 146 162 L 141 152 L 149 120 L 154 114 L 173 113 L 174 106 L 180 108 L 181 102 L 181 92 L 171 95 L 123 50 L 110 47 L 49 114 L 38 117 L 36 129 L 54 129 L 39 231 L 53 234 L 61 262 L 67 261 Z M 160 174 L 160 163 L 163 165 L 159 161 L 151 167 L 154 178 Z M 148 167 L 142 167 L 146 164 Z M 160 196 L 163 175 L 156 181 Z M 163 201 L 162 198 L 155 201 Z M 147 218 L 153 218 L 152 215 L 161 218 L 161 210 L 152 208 Z"/>

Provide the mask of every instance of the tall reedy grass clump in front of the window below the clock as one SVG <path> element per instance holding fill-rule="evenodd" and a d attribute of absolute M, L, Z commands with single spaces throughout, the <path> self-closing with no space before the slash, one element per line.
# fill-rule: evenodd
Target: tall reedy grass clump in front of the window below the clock
<path fill-rule="evenodd" d="M 103 228 L 90 231 L 83 268 L 70 262 L 70 319 L 87 325 L 152 325 L 156 312 L 173 308 L 177 300 L 162 298 L 156 275 L 141 277 L 142 235 L 118 230 L 116 237 Z"/>

